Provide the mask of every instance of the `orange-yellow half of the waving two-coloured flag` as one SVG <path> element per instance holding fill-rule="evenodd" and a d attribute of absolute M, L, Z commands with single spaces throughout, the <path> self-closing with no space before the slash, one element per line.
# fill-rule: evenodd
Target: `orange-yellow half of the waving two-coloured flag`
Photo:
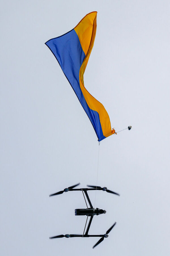
<path fill-rule="evenodd" d="M 111 129 L 109 115 L 105 110 L 104 106 L 86 90 L 86 88 L 84 87 L 84 79 L 83 79 L 84 71 L 86 69 L 86 65 L 88 63 L 88 59 L 90 57 L 90 53 L 94 45 L 96 27 L 97 27 L 96 18 L 97 18 L 97 12 L 90 13 L 86 15 L 75 28 L 75 31 L 80 40 L 82 49 L 86 55 L 80 67 L 79 80 L 80 80 L 80 88 L 82 90 L 82 93 L 84 95 L 84 98 L 89 108 L 99 113 L 103 135 L 105 137 L 108 137 L 114 133 L 114 131 L 112 131 Z"/>

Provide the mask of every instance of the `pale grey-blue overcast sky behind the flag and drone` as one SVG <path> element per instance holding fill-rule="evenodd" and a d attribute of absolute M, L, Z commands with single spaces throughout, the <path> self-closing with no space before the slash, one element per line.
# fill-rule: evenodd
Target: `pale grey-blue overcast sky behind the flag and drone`
<path fill-rule="evenodd" d="M 112 128 L 101 141 L 99 186 L 89 234 L 82 234 L 81 192 L 48 195 L 81 182 L 96 184 L 98 141 L 47 40 L 97 11 L 85 74 L 87 90 Z M 3 1 L 1 3 L 1 255 L 170 255 L 170 2 Z M 89 192 L 92 204 L 95 193 Z"/>

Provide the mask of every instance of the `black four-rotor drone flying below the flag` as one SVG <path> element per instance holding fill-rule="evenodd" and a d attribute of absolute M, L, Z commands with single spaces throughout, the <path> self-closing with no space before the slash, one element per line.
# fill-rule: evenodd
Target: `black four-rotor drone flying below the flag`
<path fill-rule="evenodd" d="M 80 185 L 80 183 L 78 183 L 78 184 L 76 184 L 76 185 L 73 185 L 73 186 L 71 186 L 71 187 L 65 188 L 64 190 L 59 191 L 59 192 L 57 192 L 57 193 L 51 194 L 50 197 L 51 197 L 51 196 L 54 196 L 54 195 L 59 195 L 59 194 L 62 194 L 62 193 L 64 193 L 64 192 L 68 192 L 68 191 L 82 191 L 83 196 L 84 196 L 84 194 L 85 194 L 85 196 L 86 196 L 86 198 L 87 198 L 87 201 L 88 201 L 88 203 L 89 203 L 89 205 L 90 205 L 90 208 L 88 208 L 88 205 L 87 205 L 87 202 L 86 202 L 86 198 L 85 198 L 85 196 L 84 196 L 84 200 L 85 200 L 85 202 L 86 202 L 87 208 L 86 208 L 86 209 L 75 209 L 75 215 L 76 215 L 76 216 L 78 216 L 78 215 L 81 215 L 81 216 L 84 215 L 84 216 L 85 216 L 85 215 L 86 215 L 86 216 L 87 216 L 86 224 L 87 224 L 88 217 L 90 217 L 90 220 L 89 220 L 89 222 L 88 222 L 87 228 L 86 228 L 86 224 L 85 224 L 84 232 L 83 232 L 82 235 L 77 235 L 77 234 L 70 234 L 70 235 L 69 235 L 69 234 L 66 234 L 66 235 L 52 236 L 52 237 L 50 237 L 50 239 L 52 239 L 52 238 L 62 238 L 62 237 L 65 237 L 65 238 L 69 238 L 69 237 L 101 237 L 101 238 L 99 239 L 99 241 L 93 246 L 93 248 L 94 248 L 94 247 L 97 246 L 99 243 L 101 243 L 101 242 L 104 240 L 104 238 L 107 238 L 107 237 L 108 237 L 109 232 L 110 232 L 110 231 L 112 230 L 112 228 L 116 225 L 116 222 L 106 231 L 106 234 L 103 234 L 103 235 L 88 235 L 88 232 L 89 232 L 89 229 L 90 229 L 90 225 L 91 225 L 91 223 L 92 223 L 92 220 L 93 220 L 94 215 L 105 214 L 105 213 L 106 213 L 106 210 L 102 210 L 102 209 L 99 209 L 99 208 L 94 208 L 94 207 L 92 206 L 92 203 L 91 203 L 91 201 L 90 201 L 90 198 L 89 198 L 89 196 L 88 196 L 87 191 L 88 191 L 88 190 L 94 190 L 94 191 L 95 191 L 95 190 L 102 190 L 102 191 L 106 191 L 106 192 L 108 192 L 108 193 L 112 193 L 112 194 L 115 194 L 115 195 L 118 195 L 118 196 L 120 196 L 120 195 L 119 195 L 118 193 L 115 193 L 115 192 L 113 192 L 113 191 L 107 189 L 107 187 L 99 187 L 99 186 L 87 185 L 87 187 L 91 187 L 91 188 L 73 189 L 74 187 L 76 187 L 76 186 L 78 186 L 78 185 Z M 86 229 L 86 232 L 85 232 L 85 229 Z"/>

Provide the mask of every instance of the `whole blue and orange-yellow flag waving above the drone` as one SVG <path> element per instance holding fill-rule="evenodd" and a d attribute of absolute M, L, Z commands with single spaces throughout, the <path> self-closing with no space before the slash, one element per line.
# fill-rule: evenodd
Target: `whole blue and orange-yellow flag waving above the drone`
<path fill-rule="evenodd" d="M 45 44 L 56 57 L 63 73 L 71 84 L 80 104 L 88 115 L 98 141 L 115 133 L 103 105 L 84 87 L 84 71 L 92 51 L 96 34 L 97 12 L 87 14 L 78 25 L 66 34 L 52 38 Z"/>

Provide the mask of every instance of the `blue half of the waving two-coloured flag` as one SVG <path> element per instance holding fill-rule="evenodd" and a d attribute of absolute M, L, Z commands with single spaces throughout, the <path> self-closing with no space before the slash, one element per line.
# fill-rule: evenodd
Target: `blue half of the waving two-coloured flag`
<path fill-rule="evenodd" d="M 82 90 L 80 89 L 79 71 L 85 58 L 85 54 L 75 30 L 73 29 L 63 36 L 50 39 L 45 44 L 50 48 L 58 60 L 61 69 L 88 115 L 98 139 L 102 137 L 105 139 L 101 128 L 99 114 L 89 108 L 84 95 L 82 94 Z"/>

